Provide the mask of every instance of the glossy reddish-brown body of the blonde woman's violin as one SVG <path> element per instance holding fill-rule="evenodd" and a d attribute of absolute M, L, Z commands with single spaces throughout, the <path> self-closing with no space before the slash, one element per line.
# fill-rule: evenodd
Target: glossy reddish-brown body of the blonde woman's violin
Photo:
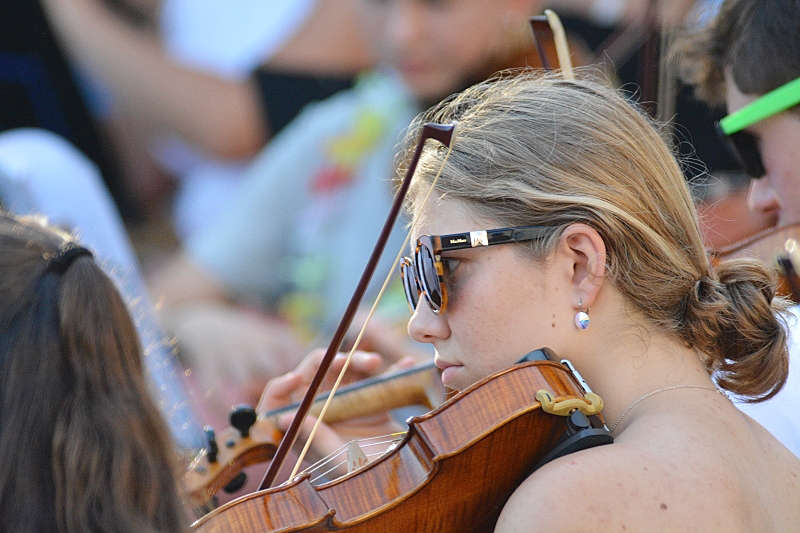
<path fill-rule="evenodd" d="M 535 398 L 541 389 L 556 399 L 583 397 L 562 364 L 516 365 L 410 419 L 403 441 L 366 466 L 317 486 L 298 476 L 229 502 L 193 527 L 203 533 L 491 531 L 513 490 L 570 433 L 568 417 L 542 410 Z"/>

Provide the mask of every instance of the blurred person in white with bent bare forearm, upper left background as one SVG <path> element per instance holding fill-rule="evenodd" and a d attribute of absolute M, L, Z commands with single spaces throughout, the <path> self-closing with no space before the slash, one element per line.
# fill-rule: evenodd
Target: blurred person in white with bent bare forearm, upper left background
<path fill-rule="evenodd" d="M 305 104 L 372 63 L 354 0 L 42 5 L 105 108 L 144 210 L 164 172 L 178 178 L 181 237 L 224 209 L 247 160 Z"/>

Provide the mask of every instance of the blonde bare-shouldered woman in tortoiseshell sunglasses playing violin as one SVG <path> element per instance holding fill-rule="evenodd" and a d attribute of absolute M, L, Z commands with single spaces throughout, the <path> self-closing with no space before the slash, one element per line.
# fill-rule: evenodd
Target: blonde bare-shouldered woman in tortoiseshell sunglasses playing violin
<path fill-rule="evenodd" d="M 595 82 L 521 75 L 434 107 L 407 153 L 427 121 L 457 126 L 407 199 L 411 337 L 455 389 L 550 347 L 615 437 L 533 472 L 496 531 L 796 530 L 800 461 L 728 398 L 780 390 L 785 304 L 761 263 L 710 266 L 643 114 Z"/>

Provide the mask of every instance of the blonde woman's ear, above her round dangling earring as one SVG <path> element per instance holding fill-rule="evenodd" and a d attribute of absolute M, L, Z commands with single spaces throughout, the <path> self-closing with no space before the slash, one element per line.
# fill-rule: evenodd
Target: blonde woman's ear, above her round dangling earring
<path fill-rule="evenodd" d="M 558 253 L 566 260 L 576 309 L 592 307 L 606 274 L 606 244 L 596 229 L 571 224 L 559 238 Z"/>

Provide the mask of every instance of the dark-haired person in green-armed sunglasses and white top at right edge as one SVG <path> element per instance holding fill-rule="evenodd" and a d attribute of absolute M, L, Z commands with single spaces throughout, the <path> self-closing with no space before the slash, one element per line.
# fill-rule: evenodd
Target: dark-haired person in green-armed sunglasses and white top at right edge
<path fill-rule="evenodd" d="M 684 78 L 712 104 L 750 176 L 748 206 L 777 226 L 800 222 L 800 1 L 727 0 L 678 52 Z M 773 401 L 740 407 L 800 456 L 800 307 L 791 309 L 789 381 Z"/>

